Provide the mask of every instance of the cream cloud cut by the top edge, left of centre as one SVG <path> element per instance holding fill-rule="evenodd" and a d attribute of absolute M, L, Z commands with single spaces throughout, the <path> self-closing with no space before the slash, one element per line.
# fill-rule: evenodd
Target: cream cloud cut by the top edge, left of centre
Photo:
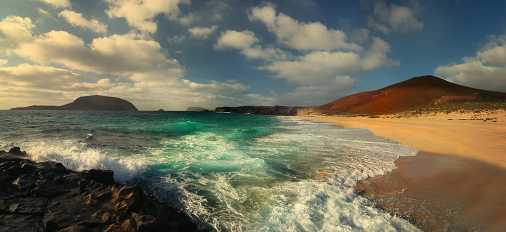
<path fill-rule="evenodd" d="M 179 4 L 189 4 L 189 0 L 103 0 L 109 3 L 106 11 L 110 18 L 125 18 L 131 27 L 143 32 L 155 33 L 154 18 L 163 14 L 169 20 L 177 21 L 180 15 Z M 183 20 L 184 22 L 189 22 Z"/>

